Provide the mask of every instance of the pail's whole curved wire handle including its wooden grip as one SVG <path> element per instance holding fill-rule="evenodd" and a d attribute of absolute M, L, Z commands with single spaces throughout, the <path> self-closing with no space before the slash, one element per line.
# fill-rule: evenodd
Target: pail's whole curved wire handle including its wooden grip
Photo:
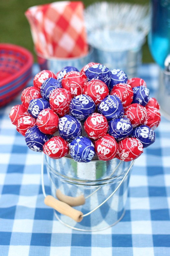
<path fill-rule="evenodd" d="M 132 163 L 130 164 L 130 167 L 127 170 L 127 172 L 125 173 L 123 179 L 121 180 L 121 182 L 119 183 L 117 188 L 111 193 L 111 195 L 108 198 L 106 198 L 101 204 L 99 204 L 95 209 L 93 209 L 92 211 L 89 211 L 86 214 L 83 214 L 81 211 L 78 211 L 78 210 L 72 208 L 67 203 L 59 201 L 56 198 L 52 197 L 51 195 L 48 195 L 48 196 L 46 195 L 45 187 L 44 187 L 44 154 L 42 153 L 41 185 L 42 185 L 42 192 L 43 192 L 43 195 L 45 197 L 44 203 L 47 206 L 50 206 L 53 209 L 55 209 L 56 211 L 60 212 L 61 214 L 66 215 L 66 216 L 72 218 L 74 221 L 81 222 L 83 217 L 88 216 L 92 212 L 96 211 L 100 206 L 102 206 L 104 203 L 106 203 L 108 201 L 108 199 L 111 198 L 116 193 L 116 191 L 119 189 L 119 187 L 121 186 L 121 184 L 125 180 L 125 178 L 128 175 L 128 173 L 130 172 L 130 169 L 131 169 L 133 164 L 134 164 L 134 161 L 132 161 Z"/>

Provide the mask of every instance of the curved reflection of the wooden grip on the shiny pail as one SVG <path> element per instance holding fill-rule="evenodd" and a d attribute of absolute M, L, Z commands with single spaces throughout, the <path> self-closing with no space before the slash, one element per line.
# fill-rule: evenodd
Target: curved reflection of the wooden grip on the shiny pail
<path fill-rule="evenodd" d="M 69 197 L 69 196 L 63 195 L 60 189 L 57 189 L 56 197 L 60 201 L 66 203 L 66 204 L 68 204 L 68 205 L 70 205 L 72 207 L 85 204 L 85 197 L 84 197 L 84 195 L 81 195 L 79 197 Z"/>

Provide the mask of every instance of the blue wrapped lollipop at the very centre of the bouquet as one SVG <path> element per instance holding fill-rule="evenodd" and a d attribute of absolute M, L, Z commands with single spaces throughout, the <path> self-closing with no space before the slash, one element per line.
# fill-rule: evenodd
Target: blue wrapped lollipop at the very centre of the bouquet
<path fill-rule="evenodd" d="M 88 95 L 81 94 L 70 102 L 70 114 L 80 121 L 85 120 L 95 112 L 95 102 Z"/>

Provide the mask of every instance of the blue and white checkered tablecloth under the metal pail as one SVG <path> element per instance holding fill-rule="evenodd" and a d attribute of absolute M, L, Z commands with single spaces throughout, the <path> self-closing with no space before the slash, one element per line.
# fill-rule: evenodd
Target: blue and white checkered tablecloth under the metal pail
<path fill-rule="evenodd" d="M 143 65 L 139 71 L 154 96 L 157 66 Z M 19 97 L 0 109 L 0 255 L 169 256 L 170 122 L 162 117 L 155 143 L 135 162 L 124 218 L 104 231 L 87 233 L 65 227 L 44 205 L 41 153 L 28 149 L 8 118 L 18 103 Z M 45 188 L 50 193 L 47 174 Z"/>

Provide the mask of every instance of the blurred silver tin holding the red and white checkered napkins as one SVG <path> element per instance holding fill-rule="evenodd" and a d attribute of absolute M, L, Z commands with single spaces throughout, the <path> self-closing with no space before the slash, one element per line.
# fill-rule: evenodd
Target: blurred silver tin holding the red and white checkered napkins
<path fill-rule="evenodd" d="M 94 62 L 94 49 L 89 46 L 89 52 L 85 56 L 79 58 L 48 58 L 36 53 L 40 70 L 51 70 L 57 73 L 66 66 L 73 66 L 81 70 L 87 63 Z"/>

